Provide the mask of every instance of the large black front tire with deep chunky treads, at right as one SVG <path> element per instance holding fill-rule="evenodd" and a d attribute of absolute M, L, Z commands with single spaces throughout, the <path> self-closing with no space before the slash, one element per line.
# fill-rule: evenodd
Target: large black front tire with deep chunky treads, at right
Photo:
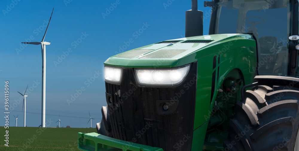
<path fill-rule="evenodd" d="M 289 88 L 289 87 L 288 87 Z M 256 86 L 229 121 L 225 151 L 298 151 L 299 89 Z"/>

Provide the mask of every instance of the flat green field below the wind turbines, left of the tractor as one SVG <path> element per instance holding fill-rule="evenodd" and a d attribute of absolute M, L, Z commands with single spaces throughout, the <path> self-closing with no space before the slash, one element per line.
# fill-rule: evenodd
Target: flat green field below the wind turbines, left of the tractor
<path fill-rule="evenodd" d="M 9 130 L 9 147 L 4 146 Z M 1 151 L 78 151 L 78 132 L 97 132 L 95 128 L 0 127 Z"/>

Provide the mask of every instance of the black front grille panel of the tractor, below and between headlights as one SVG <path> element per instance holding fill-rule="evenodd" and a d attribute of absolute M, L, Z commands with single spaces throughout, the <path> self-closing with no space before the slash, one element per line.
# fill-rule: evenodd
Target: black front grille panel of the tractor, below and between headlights
<path fill-rule="evenodd" d="M 179 86 L 144 87 L 138 85 L 133 69 L 123 68 L 120 85 L 106 82 L 106 92 L 113 98 L 108 105 L 113 137 L 164 151 L 190 151 L 196 72 L 197 62 Z M 157 100 L 179 100 L 179 106 L 170 115 L 159 115 Z"/>

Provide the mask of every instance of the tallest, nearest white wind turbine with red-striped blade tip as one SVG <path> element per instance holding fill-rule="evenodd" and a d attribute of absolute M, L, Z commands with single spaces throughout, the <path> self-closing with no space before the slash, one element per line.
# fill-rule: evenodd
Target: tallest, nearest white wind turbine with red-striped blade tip
<path fill-rule="evenodd" d="M 51 13 L 51 17 L 53 14 L 53 10 Z M 22 42 L 23 44 L 41 45 L 42 47 L 42 127 L 45 127 L 46 123 L 46 45 L 50 45 L 50 42 L 44 42 L 44 39 L 51 21 L 51 17 L 41 42 Z"/>

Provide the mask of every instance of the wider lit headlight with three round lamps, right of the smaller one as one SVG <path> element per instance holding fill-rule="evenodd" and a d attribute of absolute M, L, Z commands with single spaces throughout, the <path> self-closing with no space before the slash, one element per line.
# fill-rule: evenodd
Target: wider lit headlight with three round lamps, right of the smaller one
<path fill-rule="evenodd" d="M 190 70 L 190 64 L 177 68 L 135 69 L 140 85 L 174 86 L 180 84 Z"/>

